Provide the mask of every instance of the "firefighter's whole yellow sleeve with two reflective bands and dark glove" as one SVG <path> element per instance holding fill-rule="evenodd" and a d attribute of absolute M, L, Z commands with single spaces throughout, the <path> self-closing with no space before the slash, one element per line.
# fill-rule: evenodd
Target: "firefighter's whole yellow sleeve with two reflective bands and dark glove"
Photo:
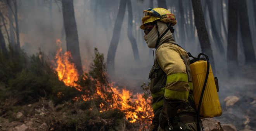
<path fill-rule="evenodd" d="M 167 75 L 163 108 L 159 115 L 159 124 L 164 129 L 167 119 L 176 116 L 183 106 L 182 103 L 187 101 L 190 87 L 186 66 L 174 46 L 160 46 L 156 51 L 156 59 Z"/>

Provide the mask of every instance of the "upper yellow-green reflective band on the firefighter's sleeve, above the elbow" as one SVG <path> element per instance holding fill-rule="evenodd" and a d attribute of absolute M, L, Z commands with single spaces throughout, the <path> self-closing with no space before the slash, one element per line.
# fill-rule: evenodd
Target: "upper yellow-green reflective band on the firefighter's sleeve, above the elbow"
<path fill-rule="evenodd" d="M 188 75 L 185 73 L 175 73 L 167 76 L 166 84 L 176 81 L 188 82 Z"/>

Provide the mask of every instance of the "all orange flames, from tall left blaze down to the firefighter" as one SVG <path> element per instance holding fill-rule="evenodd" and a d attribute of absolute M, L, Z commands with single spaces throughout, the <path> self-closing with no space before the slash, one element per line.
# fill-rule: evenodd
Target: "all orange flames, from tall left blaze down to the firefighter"
<path fill-rule="evenodd" d="M 55 55 L 56 59 L 56 68 L 55 71 L 58 74 L 59 80 L 63 81 L 66 86 L 75 87 L 78 91 L 81 91 L 80 85 L 76 83 L 78 81 L 78 72 L 74 66 L 74 63 L 70 62 L 69 59 L 72 59 L 70 52 L 65 52 L 62 54 L 61 40 L 57 39 L 56 43 L 59 47 L 57 54 Z M 106 72 L 103 72 L 106 74 Z M 84 76 L 83 80 L 92 79 L 88 76 Z M 149 129 L 151 120 L 153 118 L 153 110 L 151 107 L 151 97 L 149 99 L 143 98 L 143 94 L 133 95 L 127 89 L 119 89 L 118 87 L 113 86 L 114 83 L 110 83 L 107 86 L 103 86 L 99 81 L 96 80 L 96 91 L 94 94 L 85 93 L 80 97 L 77 96 L 73 98 L 74 101 L 83 99 L 83 101 L 90 101 L 93 99 L 101 98 L 105 102 L 99 104 L 99 112 L 103 113 L 112 109 L 119 109 L 125 113 L 125 119 L 130 123 L 140 123 L 141 129 Z M 104 92 L 105 91 L 105 92 Z M 112 94 L 112 99 L 106 99 L 106 93 Z M 58 93 L 58 96 L 61 97 L 61 92 Z M 92 109 L 92 108 L 90 108 Z"/>

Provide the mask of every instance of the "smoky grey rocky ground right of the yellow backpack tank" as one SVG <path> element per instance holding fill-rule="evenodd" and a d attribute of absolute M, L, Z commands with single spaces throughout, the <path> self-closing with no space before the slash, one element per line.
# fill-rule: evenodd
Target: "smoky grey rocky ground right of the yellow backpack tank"
<path fill-rule="evenodd" d="M 237 130 L 256 131 L 256 65 L 240 66 L 236 76 L 226 71 L 219 75 L 221 124 L 233 124 Z"/>

